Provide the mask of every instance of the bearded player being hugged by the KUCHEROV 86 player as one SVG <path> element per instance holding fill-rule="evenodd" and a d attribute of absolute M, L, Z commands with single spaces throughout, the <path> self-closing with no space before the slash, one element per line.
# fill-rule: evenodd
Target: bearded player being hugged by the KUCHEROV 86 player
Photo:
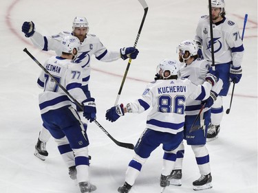
<path fill-rule="evenodd" d="M 194 41 L 182 41 L 177 48 L 178 57 L 182 63 L 180 67 L 180 78 L 188 78 L 193 84 L 203 84 L 206 74 L 211 65 L 206 60 L 199 58 L 198 47 Z M 199 167 L 201 177 L 193 182 L 193 190 L 204 190 L 212 188 L 211 168 L 209 163 L 208 150 L 206 148 L 206 135 L 208 125 L 211 124 L 211 110 L 210 107 L 216 100 L 217 93 L 222 89 L 222 80 L 215 84 L 211 91 L 210 97 L 201 102 L 200 100 L 189 99 L 186 100 L 185 122 L 184 122 L 184 139 L 187 144 L 191 146 L 195 154 L 197 166 Z M 200 125 L 199 130 L 190 133 L 190 129 L 197 117 L 202 105 L 205 108 L 200 114 L 200 119 L 196 125 Z M 171 172 L 169 179 L 172 185 L 181 185 L 182 179 L 182 161 L 184 158 L 184 143 L 180 144 L 177 152 L 177 159 L 175 167 Z"/>

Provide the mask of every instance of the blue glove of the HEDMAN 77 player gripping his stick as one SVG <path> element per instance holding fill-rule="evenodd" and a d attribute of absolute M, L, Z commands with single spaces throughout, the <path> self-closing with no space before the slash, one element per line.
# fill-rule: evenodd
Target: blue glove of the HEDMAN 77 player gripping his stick
<path fill-rule="evenodd" d="M 96 104 L 94 98 L 87 98 L 83 101 L 83 117 L 89 122 L 93 122 L 96 119 Z"/>

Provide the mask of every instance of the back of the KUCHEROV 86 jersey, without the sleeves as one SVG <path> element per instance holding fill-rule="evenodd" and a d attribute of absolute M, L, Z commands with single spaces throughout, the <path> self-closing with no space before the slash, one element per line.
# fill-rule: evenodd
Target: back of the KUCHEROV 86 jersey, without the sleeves
<path fill-rule="evenodd" d="M 147 117 L 147 127 L 168 133 L 182 131 L 186 100 L 196 87 L 189 79 L 157 80 L 149 84 L 153 109 Z"/>

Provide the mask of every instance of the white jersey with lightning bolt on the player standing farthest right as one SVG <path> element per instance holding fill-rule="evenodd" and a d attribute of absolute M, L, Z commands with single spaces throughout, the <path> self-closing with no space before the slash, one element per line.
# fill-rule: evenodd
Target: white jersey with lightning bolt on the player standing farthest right
<path fill-rule="evenodd" d="M 196 29 L 195 40 L 202 44 L 204 59 L 212 63 L 211 32 L 209 16 L 202 16 Z M 233 63 L 239 67 L 243 60 L 244 46 L 237 23 L 224 18 L 213 24 L 213 43 L 215 65 Z"/>

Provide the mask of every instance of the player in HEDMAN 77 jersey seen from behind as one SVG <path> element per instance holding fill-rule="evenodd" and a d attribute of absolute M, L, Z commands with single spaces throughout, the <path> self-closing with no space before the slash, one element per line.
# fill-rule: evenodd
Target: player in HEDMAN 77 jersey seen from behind
<path fill-rule="evenodd" d="M 87 98 L 81 84 L 83 69 L 74 63 L 80 50 L 80 41 L 75 36 L 65 36 L 61 44 L 61 56 L 52 56 L 45 61 L 44 67 L 78 102 L 83 102 L 83 116 L 92 122 L 96 118 L 94 98 Z M 39 94 L 39 108 L 44 126 L 50 131 L 58 145 L 58 150 L 67 164 L 64 154 L 69 149 L 71 163 L 67 168 L 75 166 L 70 173 L 72 179 L 77 179 L 80 192 L 92 192 L 96 186 L 89 183 L 89 140 L 83 128 L 83 122 L 76 111 L 76 105 L 66 93 L 58 87 L 48 73 L 41 72 L 39 82 L 43 85 L 43 93 Z"/>

